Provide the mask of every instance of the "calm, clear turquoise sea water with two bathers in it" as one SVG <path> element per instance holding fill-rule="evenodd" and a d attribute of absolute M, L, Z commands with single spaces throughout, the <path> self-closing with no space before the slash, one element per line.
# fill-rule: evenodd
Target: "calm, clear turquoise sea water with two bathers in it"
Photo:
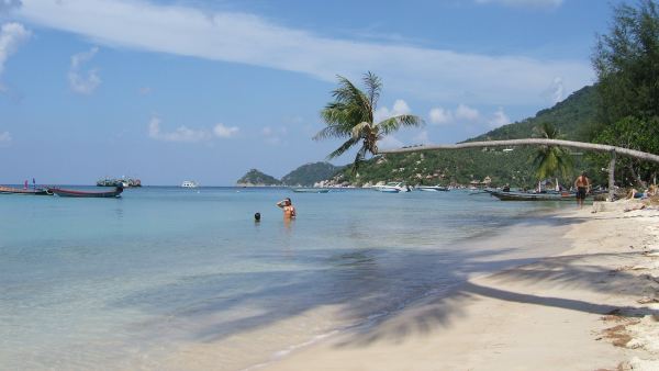
<path fill-rule="evenodd" d="M 284 196 L 299 214 L 289 225 L 275 206 Z M 471 241 L 547 207 L 468 192 L 1 195 L 0 368 L 161 369 L 215 342 L 216 369 L 243 367 L 522 261 Z M 339 316 L 310 315 L 326 307 Z"/>

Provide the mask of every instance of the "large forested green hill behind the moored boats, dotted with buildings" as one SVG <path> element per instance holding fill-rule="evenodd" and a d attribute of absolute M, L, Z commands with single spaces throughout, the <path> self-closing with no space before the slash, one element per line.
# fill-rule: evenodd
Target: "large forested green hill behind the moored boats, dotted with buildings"
<path fill-rule="evenodd" d="M 585 87 L 550 109 L 539 111 L 534 117 L 504 125 L 466 142 L 513 139 L 532 137 L 534 128 L 544 122 L 558 127 L 566 139 L 583 140 L 595 122 L 595 90 Z M 366 161 L 357 176 L 344 170 L 336 181 L 349 181 L 356 186 L 378 181 L 406 181 L 409 184 L 467 184 L 472 180 L 490 177 L 492 184 L 510 183 L 514 187 L 533 187 L 537 181 L 532 164 L 535 149 L 479 148 L 381 155 Z M 576 171 L 590 168 L 584 156 L 574 156 Z M 595 182 L 604 181 L 605 175 L 593 172 Z M 566 179 L 565 182 L 569 180 Z"/>

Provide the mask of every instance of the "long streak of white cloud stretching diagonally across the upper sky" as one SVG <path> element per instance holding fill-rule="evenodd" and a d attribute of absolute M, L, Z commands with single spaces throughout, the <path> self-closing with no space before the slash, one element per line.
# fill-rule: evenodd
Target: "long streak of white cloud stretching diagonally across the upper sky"
<path fill-rule="evenodd" d="M 389 91 L 455 103 L 470 97 L 473 104 L 543 104 L 539 94 L 555 76 L 562 76 L 568 92 L 593 78 L 588 61 L 330 38 L 253 14 L 146 0 L 24 0 L 19 14 L 113 47 L 297 71 L 333 82 L 336 74 L 358 79 L 372 70 Z"/>

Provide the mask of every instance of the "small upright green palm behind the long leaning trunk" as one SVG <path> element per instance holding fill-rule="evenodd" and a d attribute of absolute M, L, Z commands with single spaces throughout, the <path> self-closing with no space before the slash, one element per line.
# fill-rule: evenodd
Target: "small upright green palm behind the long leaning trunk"
<path fill-rule="evenodd" d="M 543 123 L 536 128 L 537 134 L 543 139 L 560 139 L 561 134 L 550 123 Z M 540 145 L 533 160 L 536 167 L 538 178 L 546 179 L 560 172 L 562 178 L 568 178 L 572 170 L 572 156 L 569 150 L 563 147 L 552 145 Z"/>

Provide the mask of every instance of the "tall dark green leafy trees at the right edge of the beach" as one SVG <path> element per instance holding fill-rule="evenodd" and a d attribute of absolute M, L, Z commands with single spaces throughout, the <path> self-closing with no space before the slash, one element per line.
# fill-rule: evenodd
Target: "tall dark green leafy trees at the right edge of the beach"
<path fill-rule="evenodd" d="M 597 74 L 594 143 L 659 154 L 659 3 L 615 8 L 608 34 L 600 35 L 592 63 Z M 603 165 L 606 158 L 593 159 Z M 629 183 L 652 180 L 659 166 L 623 158 L 618 169 Z"/>

